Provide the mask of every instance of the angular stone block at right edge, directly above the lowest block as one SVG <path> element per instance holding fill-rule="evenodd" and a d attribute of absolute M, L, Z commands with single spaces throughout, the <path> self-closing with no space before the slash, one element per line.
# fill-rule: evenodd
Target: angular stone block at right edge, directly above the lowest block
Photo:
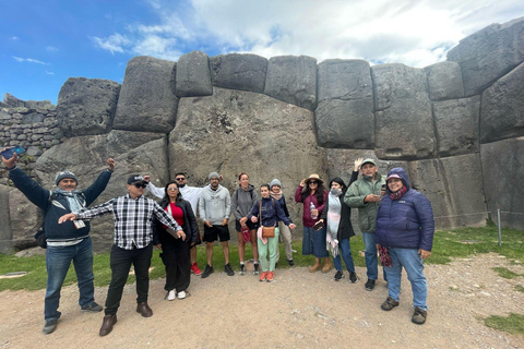
<path fill-rule="evenodd" d="M 481 143 L 524 135 L 524 63 L 483 93 L 480 110 Z"/>

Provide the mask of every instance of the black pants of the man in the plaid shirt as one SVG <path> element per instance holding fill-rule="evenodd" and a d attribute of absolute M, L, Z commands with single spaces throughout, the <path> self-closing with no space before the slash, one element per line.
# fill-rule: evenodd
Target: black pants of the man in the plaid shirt
<path fill-rule="evenodd" d="M 111 248 L 111 284 L 107 291 L 106 315 L 116 314 L 122 299 L 123 287 L 128 280 L 131 264 L 134 265 L 136 276 L 136 303 L 147 301 L 150 291 L 150 266 L 153 255 L 153 244 L 144 249 L 123 250 L 117 245 Z"/>

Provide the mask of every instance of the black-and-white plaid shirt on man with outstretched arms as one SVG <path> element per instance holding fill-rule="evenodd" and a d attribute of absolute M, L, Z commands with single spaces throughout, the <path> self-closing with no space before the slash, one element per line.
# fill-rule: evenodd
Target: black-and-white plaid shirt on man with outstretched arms
<path fill-rule="evenodd" d="M 172 216 L 156 202 L 144 196 L 132 198 L 128 194 L 115 197 L 75 215 L 79 219 L 90 219 L 107 213 L 112 213 L 114 243 L 124 250 L 143 249 L 153 241 L 153 216 L 175 231 L 182 230 Z"/>

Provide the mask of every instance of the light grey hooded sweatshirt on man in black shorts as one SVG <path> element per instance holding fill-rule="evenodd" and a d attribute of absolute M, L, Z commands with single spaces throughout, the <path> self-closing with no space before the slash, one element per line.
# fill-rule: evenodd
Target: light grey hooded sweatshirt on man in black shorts
<path fill-rule="evenodd" d="M 231 215 L 231 197 L 229 191 L 218 184 L 216 190 L 211 184 L 204 186 L 199 200 L 200 219 L 209 220 L 213 226 L 222 225 L 224 218 Z"/>

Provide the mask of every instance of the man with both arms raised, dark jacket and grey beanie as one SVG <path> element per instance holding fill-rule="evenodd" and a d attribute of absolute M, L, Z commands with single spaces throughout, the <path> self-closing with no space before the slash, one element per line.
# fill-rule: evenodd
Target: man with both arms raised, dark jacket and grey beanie
<path fill-rule="evenodd" d="M 80 210 L 91 205 L 106 185 L 115 170 L 115 160 L 109 158 L 108 168 L 103 171 L 90 188 L 79 191 L 78 178 L 71 171 L 62 171 L 57 174 L 55 182 L 57 189 L 51 192 L 41 188 L 24 171 L 16 167 L 16 155 L 5 159 L 3 165 L 9 170 L 9 178 L 14 185 L 45 214 L 44 229 L 47 240 L 46 268 L 47 288 L 45 298 L 44 317 L 46 324 L 43 332 L 47 335 L 57 328 L 57 322 L 61 313 L 60 290 L 68 274 L 71 261 L 76 273 L 80 298 L 79 304 L 83 312 L 99 312 L 102 306 L 94 298 L 93 275 L 93 245 L 90 238 L 90 222 L 72 221 L 59 225 L 58 218 L 64 214 Z"/>

